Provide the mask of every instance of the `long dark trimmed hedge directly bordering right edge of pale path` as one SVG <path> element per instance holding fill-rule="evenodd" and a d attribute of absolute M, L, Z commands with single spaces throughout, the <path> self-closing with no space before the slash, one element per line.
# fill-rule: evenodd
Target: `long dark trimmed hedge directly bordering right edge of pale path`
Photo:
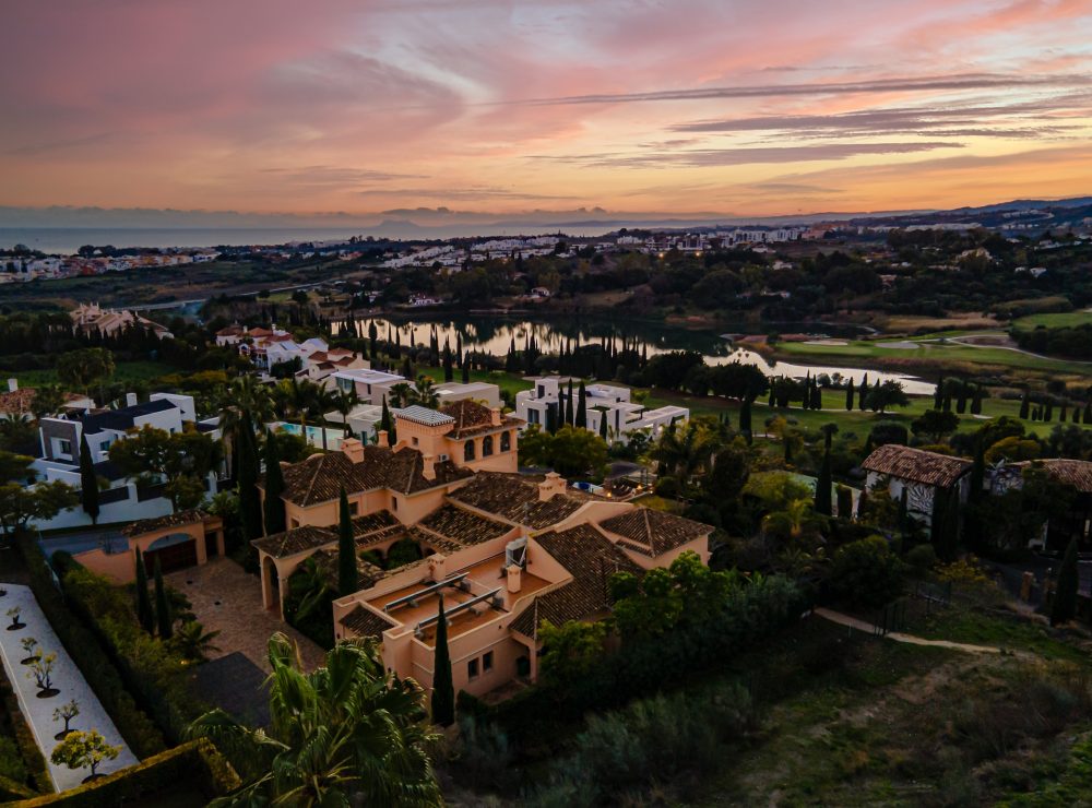
<path fill-rule="evenodd" d="M 136 706 L 126 689 L 121 675 L 95 634 L 68 608 L 54 585 L 52 573 L 41 549 L 29 534 L 16 542 L 29 572 L 31 591 L 38 601 L 54 632 L 75 662 L 87 685 L 138 758 L 146 758 L 166 748 L 163 734 L 149 716 Z"/>

